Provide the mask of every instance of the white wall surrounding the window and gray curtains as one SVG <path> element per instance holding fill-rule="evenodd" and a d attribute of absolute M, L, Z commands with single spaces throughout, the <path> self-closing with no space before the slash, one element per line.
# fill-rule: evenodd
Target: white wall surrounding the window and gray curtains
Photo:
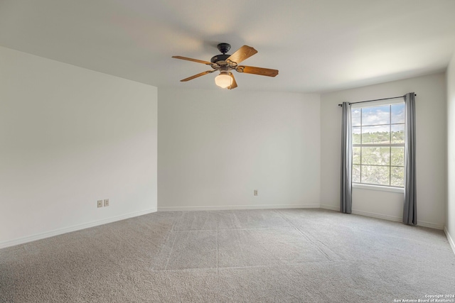
<path fill-rule="evenodd" d="M 341 108 L 415 92 L 417 222 L 442 229 L 446 200 L 446 83 L 444 73 L 321 95 L 321 205 L 339 209 Z M 403 194 L 353 188 L 353 213 L 402 220 Z"/>

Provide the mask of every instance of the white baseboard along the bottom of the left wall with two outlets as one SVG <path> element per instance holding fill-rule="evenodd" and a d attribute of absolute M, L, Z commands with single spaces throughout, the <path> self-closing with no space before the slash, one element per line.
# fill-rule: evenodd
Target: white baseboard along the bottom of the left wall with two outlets
<path fill-rule="evenodd" d="M 102 220 L 98 220 L 98 221 L 92 221 L 92 222 L 89 222 L 89 223 L 79 224 L 79 225 L 65 227 L 65 228 L 58 228 L 58 229 L 55 229 L 53 231 L 46 231 L 44 233 L 37 233 L 37 234 L 32 235 L 32 236 L 26 236 L 26 237 L 23 237 L 23 238 L 17 238 L 17 239 L 10 240 L 10 241 L 3 241 L 3 242 L 0 242 L 0 249 L 1 248 L 6 248 L 6 247 L 10 247 L 10 246 L 16 246 L 16 245 L 23 244 L 23 243 L 28 243 L 28 242 L 31 242 L 31 241 L 41 240 L 43 238 L 49 238 L 49 237 L 53 237 L 53 236 L 58 236 L 58 235 L 61 235 L 63 233 L 70 233 L 72 231 L 80 231 L 81 229 L 95 227 L 95 226 L 99 226 L 99 225 L 103 225 L 103 224 L 108 224 L 108 223 L 112 223 L 112 222 L 120 221 L 120 220 L 124 220 L 124 219 L 129 219 L 129 218 L 132 218 L 134 216 L 142 216 L 144 214 L 150 214 L 150 213 L 153 213 L 153 212 L 156 212 L 156 208 L 146 209 L 144 211 L 135 211 L 135 212 L 132 212 L 132 213 L 129 213 L 129 214 L 122 214 L 121 216 L 113 216 L 113 217 L 110 217 L 110 218 L 107 218 L 107 219 L 102 219 Z"/>

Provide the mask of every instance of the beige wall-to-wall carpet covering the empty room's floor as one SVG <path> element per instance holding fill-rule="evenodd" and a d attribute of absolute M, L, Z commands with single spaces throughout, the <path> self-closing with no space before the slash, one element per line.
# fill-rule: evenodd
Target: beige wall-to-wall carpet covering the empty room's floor
<path fill-rule="evenodd" d="M 323 209 L 159 212 L 0 250 L 0 302 L 439 294 L 455 294 L 455 255 L 442 231 Z"/>

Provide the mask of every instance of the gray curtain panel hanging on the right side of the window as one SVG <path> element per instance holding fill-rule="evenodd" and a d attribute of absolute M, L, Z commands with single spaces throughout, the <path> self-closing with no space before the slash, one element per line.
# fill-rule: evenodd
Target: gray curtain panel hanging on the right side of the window
<path fill-rule="evenodd" d="M 417 225 L 417 197 L 415 177 L 415 97 L 405 94 L 405 207 L 403 223 Z"/>

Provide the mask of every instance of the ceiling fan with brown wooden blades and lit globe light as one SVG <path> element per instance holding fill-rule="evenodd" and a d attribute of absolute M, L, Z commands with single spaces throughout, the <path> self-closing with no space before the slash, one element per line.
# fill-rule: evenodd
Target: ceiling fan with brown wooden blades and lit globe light
<path fill-rule="evenodd" d="M 215 84 L 217 84 L 219 87 L 222 87 L 223 89 L 235 89 L 237 87 L 237 82 L 235 82 L 234 75 L 230 70 L 236 70 L 237 72 L 245 72 L 247 74 L 255 74 L 255 75 L 262 75 L 262 76 L 268 76 L 268 77 L 275 77 L 278 75 L 278 70 L 271 70 L 269 68 L 262 68 L 262 67 L 253 67 L 253 66 L 245 66 L 245 65 L 238 65 L 240 62 L 243 60 L 251 57 L 252 55 L 255 55 L 257 53 L 257 50 L 254 48 L 248 46 L 248 45 L 243 45 L 241 48 L 235 51 L 232 55 L 226 55 L 228 51 L 230 50 L 230 44 L 228 43 L 220 43 L 217 45 L 218 50 L 220 50 L 223 55 L 215 55 L 210 59 L 210 62 L 208 61 L 203 61 L 203 60 L 197 60 L 197 59 L 191 59 L 188 57 L 181 57 L 181 56 L 172 56 L 173 58 L 176 59 L 181 59 L 181 60 L 188 60 L 188 61 L 193 61 L 193 62 L 198 62 L 198 63 L 203 63 L 205 65 L 210 65 L 213 70 L 208 70 L 206 72 L 201 72 L 198 75 L 194 75 L 191 77 L 188 77 L 186 79 L 180 80 L 181 82 L 186 82 L 192 79 L 195 79 L 197 77 L 203 76 L 210 74 L 212 72 L 215 72 L 217 70 L 220 71 L 220 75 L 215 77 Z"/>

